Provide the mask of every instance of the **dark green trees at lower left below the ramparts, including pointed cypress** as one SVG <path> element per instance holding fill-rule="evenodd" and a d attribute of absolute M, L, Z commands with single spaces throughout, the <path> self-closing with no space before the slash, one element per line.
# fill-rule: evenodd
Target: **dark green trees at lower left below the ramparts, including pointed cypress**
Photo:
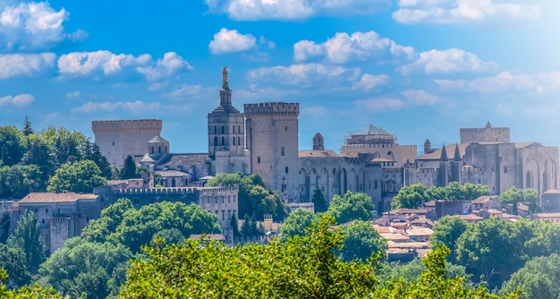
<path fill-rule="evenodd" d="M 118 294 L 129 261 L 144 257 L 142 245 L 220 231 L 216 215 L 194 203 L 162 201 L 134 209 L 132 201 L 121 199 L 45 259 L 37 218 L 28 210 L 7 244 L 0 244 L 0 268 L 7 270 L 6 285 L 12 288 L 35 282 L 43 287 L 39 291 L 54 287 L 72 298 L 105 298 Z"/>

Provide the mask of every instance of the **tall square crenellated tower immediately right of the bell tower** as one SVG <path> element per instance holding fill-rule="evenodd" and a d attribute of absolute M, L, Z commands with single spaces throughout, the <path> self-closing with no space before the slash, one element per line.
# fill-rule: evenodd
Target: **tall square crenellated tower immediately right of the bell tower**
<path fill-rule="evenodd" d="M 298 192 L 298 103 L 245 104 L 250 167 L 267 187 L 294 200 Z"/>

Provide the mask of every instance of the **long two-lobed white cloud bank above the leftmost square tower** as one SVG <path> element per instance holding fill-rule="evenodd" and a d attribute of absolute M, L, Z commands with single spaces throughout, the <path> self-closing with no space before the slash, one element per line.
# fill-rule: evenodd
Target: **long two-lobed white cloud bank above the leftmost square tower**
<path fill-rule="evenodd" d="M 113 75 L 124 70 L 134 70 L 149 81 L 157 81 L 172 76 L 174 73 L 193 70 L 193 67 L 174 52 L 167 52 L 163 58 L 154 62 L 148 54 L 132 56 L 100 50 L 97 52 L 72 52 L 60 56 L 58 70 L 65 76 Z"/>

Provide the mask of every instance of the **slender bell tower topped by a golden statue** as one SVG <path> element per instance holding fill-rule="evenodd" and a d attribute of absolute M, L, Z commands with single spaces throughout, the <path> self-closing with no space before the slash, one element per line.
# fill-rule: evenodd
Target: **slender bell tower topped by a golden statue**
<path fill-rule="evenodd" d="M 232 90 L 224 67 L 219 106 L 208 114 L 208 156 L 214 174 L 250 174 L 250 152 L 245 148 L 245 117 L 232 105 Z"/>

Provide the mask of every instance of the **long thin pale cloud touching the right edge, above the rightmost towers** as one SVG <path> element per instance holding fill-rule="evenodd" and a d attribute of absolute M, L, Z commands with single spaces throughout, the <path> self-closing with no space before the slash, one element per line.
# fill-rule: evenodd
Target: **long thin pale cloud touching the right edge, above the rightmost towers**
<path fill-rule="evenodd" d="M 495 76 L 471 80 L 436 80 L 444 90 L 499 93 L 527 91 L 537 94 L 560 90 L 560 72 L 549 73 L 498 73 Z"/>

